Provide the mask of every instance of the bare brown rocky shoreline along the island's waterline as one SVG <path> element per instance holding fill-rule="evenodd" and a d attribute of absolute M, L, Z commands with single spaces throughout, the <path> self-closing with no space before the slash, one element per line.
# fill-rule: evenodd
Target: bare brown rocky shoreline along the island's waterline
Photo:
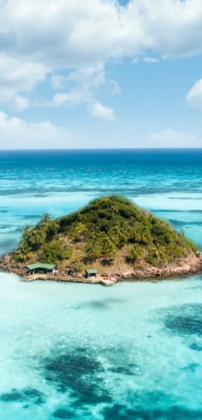
<path fill-rule="evenodd" d="M 16 265 L 11 261 L 11 254 L 6 254 L 0 261 L 0 271 L 16 274 L 20 277 L 25 277 L 27 271 L 23 266 Z M 71 271 L 71 270 L 70 270 Z M 147 265 L 141 268 L 135 268 L 135 266 L 128 266 L 128 268 L 114 269 L 113 266 L 109 267 L 107 272 L 101 274 L 102 277 L 109 276 L 116 279 L 116 281 L 126 280 L 153 280 L 153 279 L 168 279 L 170 277 L 181 277 L 183 275 L 197 274 L 202 271 L 202 253 L 198 252 L 197 255 L 190 253 L 185 258 L 177 261 L 175 264 L 168 264 L 165 267 L 157 267 L 154 265 Z M 64 271 L 57 270 L 57 275 L 64 275 Z M 84 277 L 81 273 L 73 273 L 72 279 Z"/>

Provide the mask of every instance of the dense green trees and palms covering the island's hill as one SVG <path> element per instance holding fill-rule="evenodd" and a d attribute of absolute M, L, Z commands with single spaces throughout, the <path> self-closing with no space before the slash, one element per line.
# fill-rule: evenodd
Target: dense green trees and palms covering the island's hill
<path fill-rule="evenodd" d="M 44 215 L 36 226 L 23 230 L 15 262 L 68 261 L 74 269 L 83 264 L 113 262 L 119 255 L 128 264 L 163 266 L 179 260 L 197 247 L 167 222 L 145 212 L 128 199 L 101 197 L 79 211 L 52 220 Z"/>

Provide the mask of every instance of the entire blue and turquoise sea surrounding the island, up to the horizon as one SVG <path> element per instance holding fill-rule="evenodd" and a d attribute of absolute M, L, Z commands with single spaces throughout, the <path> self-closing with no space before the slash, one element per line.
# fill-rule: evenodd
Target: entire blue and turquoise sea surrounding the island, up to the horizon
<path fill-rule="evenodd" d="M 202 150 L 0 151 L 0 254 L 121 194 L 202 248 Z M 202 419 L 202 276 L 112 288 L 0 273 L 1 420 Z"/>

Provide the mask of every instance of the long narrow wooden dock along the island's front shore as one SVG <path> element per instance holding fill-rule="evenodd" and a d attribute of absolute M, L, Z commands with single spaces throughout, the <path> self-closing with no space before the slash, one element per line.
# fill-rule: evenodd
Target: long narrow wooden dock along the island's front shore
<path fill-rule="evenodd" d="M 76 277 L 66 277 L 66 276 L 53 276 L 47 274 L 33 274 L 30 276 L 22 277 L 21 279 L 24 282 L 33 282 L 36 280 L 44 280 L 44 281 L 56 281 L 56 282 L 64 282 L 64 283 L 89 283 L 89 284 L 101 284 L 102 286 L 113 286 L 116 281 L 111 280 L 110 278 L 103 278 L 103 277 L 95 277 L 94 279 L 86 279 L 86 278 L 76 278 Z"/>

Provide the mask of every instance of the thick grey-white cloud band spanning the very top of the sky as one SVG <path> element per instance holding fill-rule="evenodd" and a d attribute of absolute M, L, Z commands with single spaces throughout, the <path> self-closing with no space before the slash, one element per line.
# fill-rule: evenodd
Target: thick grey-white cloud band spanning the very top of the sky
<path fill-rule="evenodd" d="M 1 49 L 76 67 L 152 48 L 202 52 L 200 0 L 0 0 Z M 134 54 L 135 55 L 135 54 Z"/>

